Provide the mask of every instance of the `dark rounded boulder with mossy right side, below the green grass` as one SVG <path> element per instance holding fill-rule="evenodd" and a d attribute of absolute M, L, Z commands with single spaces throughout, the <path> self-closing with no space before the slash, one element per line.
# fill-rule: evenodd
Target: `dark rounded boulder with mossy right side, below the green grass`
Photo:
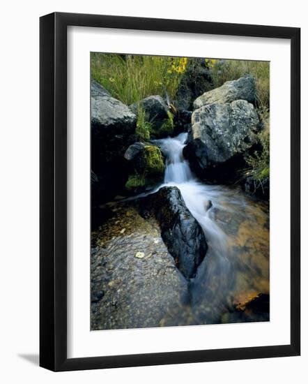
<path fill-rule="evenodd" d="M 137 116 L 140 108 L 146 113 L 146 120 L 151 123 L 151 137 L 164 138 L 173 133 L 173 116 L 161 96 L 148 96 L 130 105 L 130 109 Z"/>

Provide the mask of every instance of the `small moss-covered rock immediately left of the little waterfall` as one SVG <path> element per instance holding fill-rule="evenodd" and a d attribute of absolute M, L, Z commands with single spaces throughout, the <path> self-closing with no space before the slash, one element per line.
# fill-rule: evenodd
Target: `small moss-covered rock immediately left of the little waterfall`
<path fill-rule="evenodd" d="M 146 145 L 134 161 L 134 173 L 128 177 L 126 189 L 134 190 L 162 182 L 164 177 L 164 158 L 160 148 Z"/>

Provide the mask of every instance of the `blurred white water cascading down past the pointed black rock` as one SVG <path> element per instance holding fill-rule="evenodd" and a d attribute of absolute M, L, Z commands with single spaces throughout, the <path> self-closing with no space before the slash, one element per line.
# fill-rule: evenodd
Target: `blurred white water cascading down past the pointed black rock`
<path fill-rule="evenodd" d="M 229 210 L 235 213 L 236 206 L 242 205 L 240 198 L 236 204 L 226 207 L 226 200 L 234 200 L 233 195 L 223 186 L 210 186 L 201 183 L 194 177 L 190 165 L 183 156 L 183 147 L 187 133 L 180 133 L 176 138 L 155 140 L 166 156 L 164 184 L 160 186 L 176 186 L 180 189 L 187 208 L 201 225 L 208 242 L 208 252 L 203 263 L 199 266 L 197 276 L 191 283 L 190 295 L 192 306 L 203 303 L 212 307 L 206 321 L 213 323 L 220 318 L 220 308 L 226 303 L 226 297 L 234 285 L 234 270 L 229 258 L 229 237 L 218 225 L 213 212 Z M 233 207 L 235 209 L 233 210 Z M 210 287 L 210 289 L 208 289 Z M 213 296 L 214 295 L 214 296 Z"/>

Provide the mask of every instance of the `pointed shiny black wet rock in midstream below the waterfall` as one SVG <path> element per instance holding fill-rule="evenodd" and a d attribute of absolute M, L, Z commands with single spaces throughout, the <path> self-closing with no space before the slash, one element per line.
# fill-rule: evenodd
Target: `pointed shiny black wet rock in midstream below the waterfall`
<path fill-rule="evenodd" d="M 169 253 L 186 279 L 195 276 L 208 245 L 203 230 L 187 209 L 176 186 L 163 187 L 141 200 L 141 209 L 152 212 L 160 224 Z"/>

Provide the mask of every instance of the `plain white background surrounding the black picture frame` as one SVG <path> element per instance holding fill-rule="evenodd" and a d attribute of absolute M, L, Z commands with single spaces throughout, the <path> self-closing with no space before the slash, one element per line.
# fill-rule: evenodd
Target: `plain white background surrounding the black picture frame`
<path fill-rule="evenodd" d="M 3 383 L 299 383 L 307 380 L 307 199 L 302 199 L 302 357 L 58 373 L 38 368 L 38 17 L 54 11 L 302 28 L 302 196 L 307 195 L 306 1 L 46 0 L 1 6 L 1 317 Z M 284 80 L 282 79 L 282 82 Z M 283 113 L 283 111 L 282 111 Z M 305 153 L 306 152 L 306 153 Z M 284 214 L 282 207 L 282 226 Z M 282 239 L 283 241 L 283 239 Z"/>

